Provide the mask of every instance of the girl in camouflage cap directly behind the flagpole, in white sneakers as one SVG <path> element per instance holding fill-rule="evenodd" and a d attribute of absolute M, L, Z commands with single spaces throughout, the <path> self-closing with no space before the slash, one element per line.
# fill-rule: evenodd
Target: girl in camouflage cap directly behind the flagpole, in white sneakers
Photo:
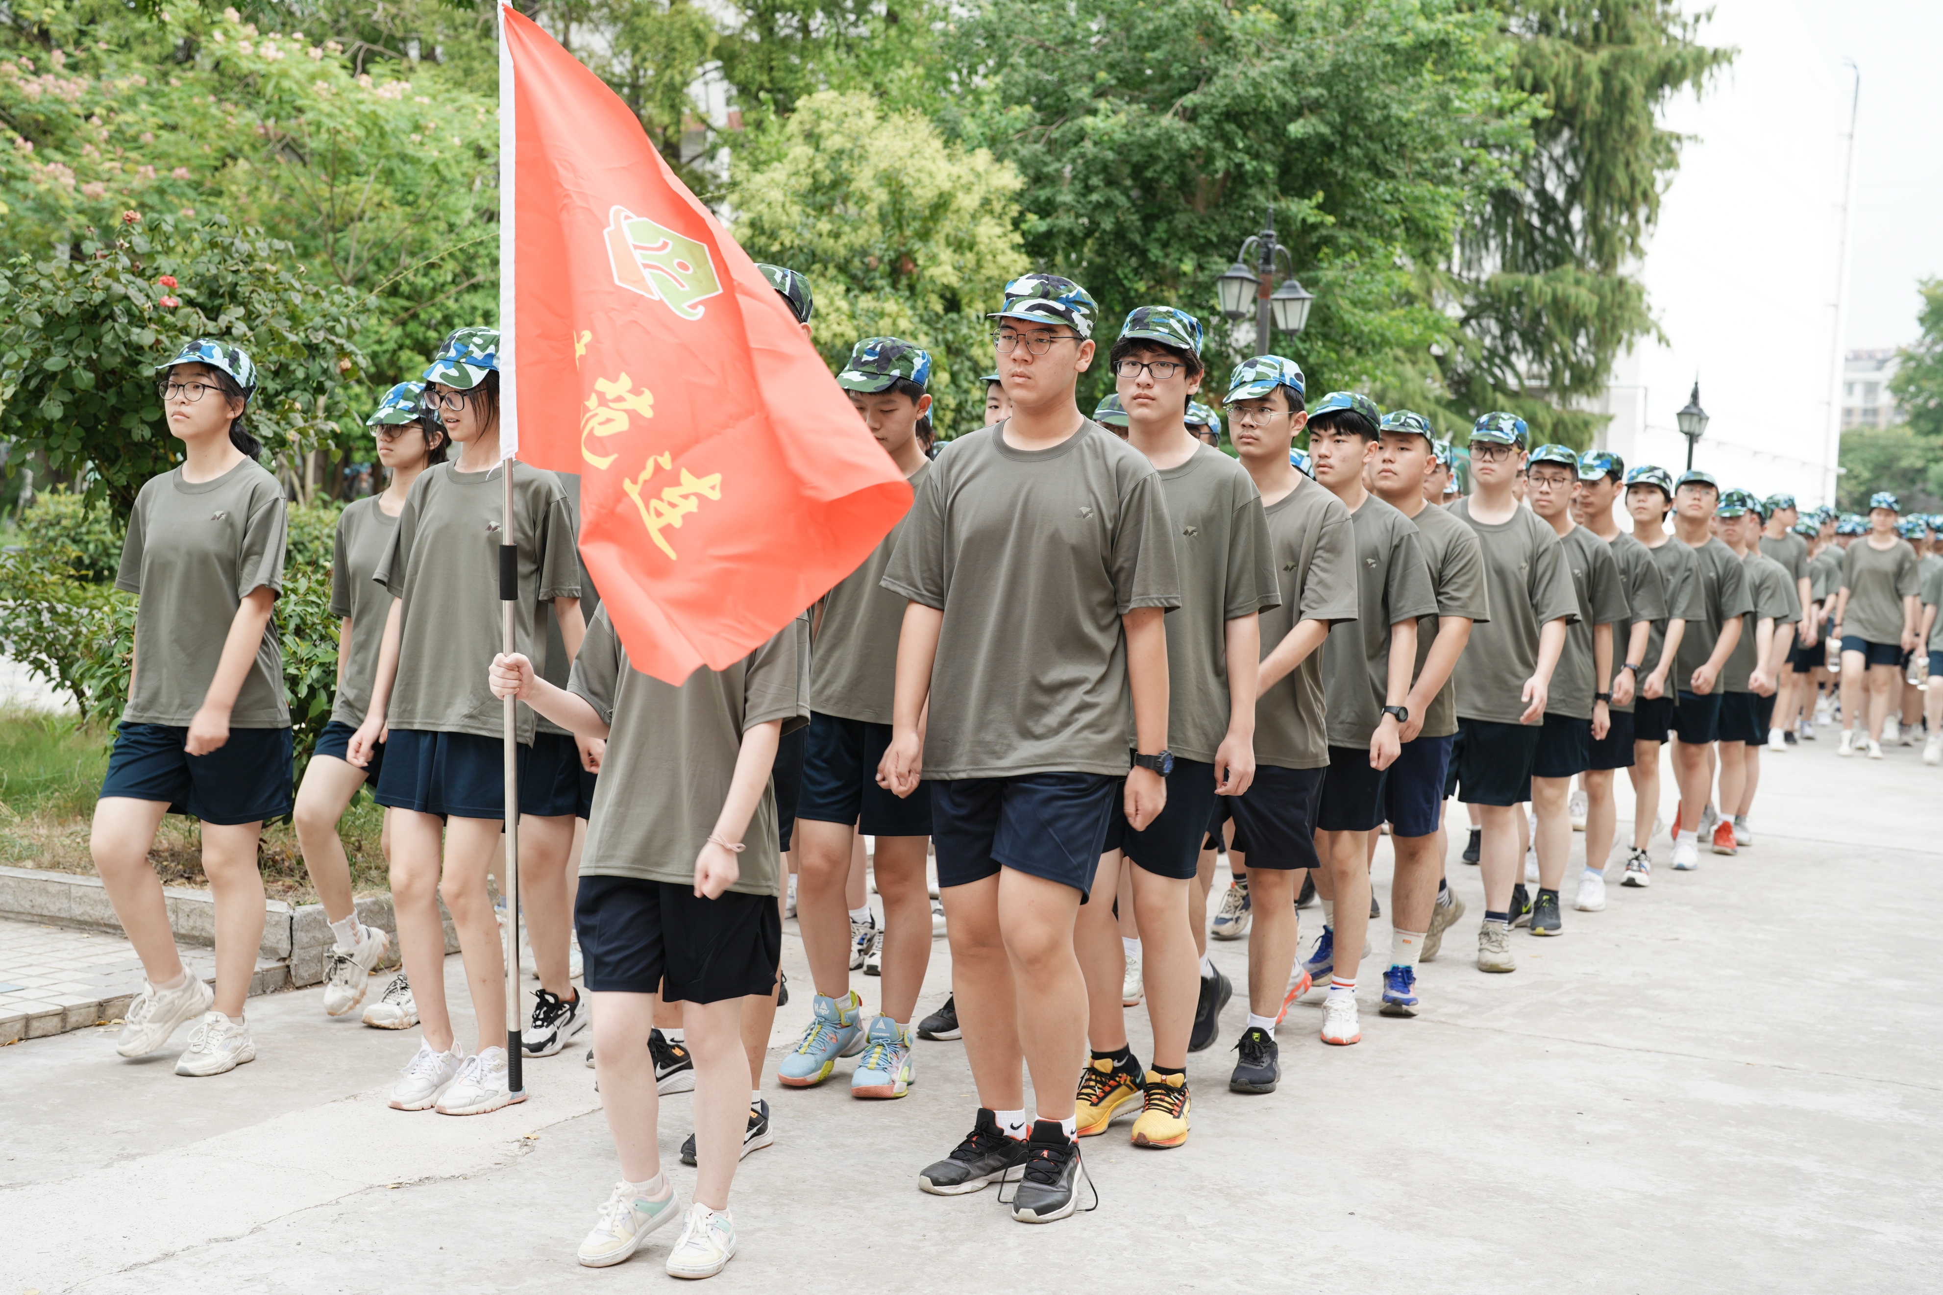
<path fill-rule="evenodd" d="M 497 588 L 505 518 L 499 460 L 499 330 L 460 328 L 426 369 L 426 404 L 460 447 L 457 462 L 427 468 L 398 515 L 398 530 L 373 579 L 392 604 L 379 647 L 363 724 L 346 759 L 371 767 L 379 734 L 385 759 L 377 802 L 391 810 L 391 893 L 398 951 L 410 975 L 424 1039 L 391 1093 L 394 1111 L 484 1114 L 525 1101 L 507 1087 L 505 953 L 486 893 L 501 856 L 505 755 L 501 707 L 486 666 L 501 647 Z M 515 645 L 546 658 L 540 602 L 552 602 L 567 650 L 581 641 L 581 569 L 567 495 L 552 472 L 511 462 L 519 528 Z M 534 718 L 519 722 L 519 763 L 532 749 Z M 478 1050 L 464 1054 L 445 1002 L 445 901 L 459 930 Z"/>

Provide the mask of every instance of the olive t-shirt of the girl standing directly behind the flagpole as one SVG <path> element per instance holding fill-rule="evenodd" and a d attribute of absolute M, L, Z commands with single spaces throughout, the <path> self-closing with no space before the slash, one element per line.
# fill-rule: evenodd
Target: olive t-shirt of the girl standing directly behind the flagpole
<path fill-rule="evenodd" d="M 492 472 L 433 464 L 412 481 L 391 549 L 371 577 L 404 600 L 398 676 L 387 722 L 392 728 L 497 738 L 501 703 L 486 676 L 499 652 L 499 534 L 505 487 Z M 573 513 L 560 478 L 515 460 L 513 513 L 519 546 L 519 602 L 513 648 L 546 672 L 538 604 L 581 596 Z M 519 707 L 517 736 L 532 744 L 534 714 Z"/>

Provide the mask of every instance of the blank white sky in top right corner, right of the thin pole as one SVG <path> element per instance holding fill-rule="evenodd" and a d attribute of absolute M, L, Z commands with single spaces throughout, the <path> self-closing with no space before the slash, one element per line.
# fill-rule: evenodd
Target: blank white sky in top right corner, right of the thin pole
<path fill-rule="evenodd" d="M 1916 340 L 1916 280 L 1943 276 L 1943 4 L 1799 0 L 1832 68 L 1861 68 L 1850 349 Z M 1848 68 L 1840 68 L 1850 83 Z"/>

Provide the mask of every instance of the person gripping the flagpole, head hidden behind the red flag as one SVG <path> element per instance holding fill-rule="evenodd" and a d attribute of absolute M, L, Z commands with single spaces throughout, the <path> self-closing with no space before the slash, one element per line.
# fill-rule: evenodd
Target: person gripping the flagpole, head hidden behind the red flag
<path fill-rule="evenodd" d="M 748 1151 L 746 998 L 766 998 L 783 953 L 781 850 L 769 771 L 781 730 L 808 718 L 804 617 L 727 670 L 668 685 L 633 668 L 606 608 L 567 689 L 525 654 L 494 656 L 492 691 L 562 728 L 604 738 L 573 924 L 595 996 L 595 1072 L 622 1180 L 579 1248 L 620 1264 L 684 1217 L 668 1274 L 709 1278 L 736 1252 L 729 1186 Z M 696 1068 L 696 1194 L 684 1215 L 661 1171 L 655 1004 L 680 1004 Z M 744 1093 L 750 1093 L 744 1099 Z"/>

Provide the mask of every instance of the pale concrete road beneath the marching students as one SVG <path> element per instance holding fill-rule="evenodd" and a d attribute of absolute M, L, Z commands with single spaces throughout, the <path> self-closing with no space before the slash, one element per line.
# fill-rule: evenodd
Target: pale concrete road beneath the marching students
<path fill-rule="evenodd" d="M 1764 777 L 1753 848 L 1615 887 L 1562 940 L 1519 932 L 1512 977 L 1463 957 L 1473 916 L 1424 969 L 1422 1017 L 1376 1015 L 1378 959 L 1358 1046 L 1321 1046 L 1300 1006 L 1273 1097 L 1226 1091 L 1238 1000 L 1189 1062 L 1189 1146 L 1090 1140 L 1100 1210 L 1053 1227 L 915 1190 L 970 1122 L 960 1045 L 919 1045 L 911 1097 L 872 1107 L 781 1091 L 771 1060 L 777 1142 L 742 1165 L 744 1248 L 711 1289 L 1937 1289 L 1943 771 L 1821 742 Z M 1376 870 L 1387 907 L 1387 848 Z M 1477 870 L 1451 874 L 1477 913 Z M 1245 946 L 1214 957 L 1240 977 Z M 785 959 L 806 990 L 793 934 Z M 921 1010 L 946 982 L 940 940 Z M 204 1081 L 117 1060 L 107 1029 L 0 1048 L 0 1295 L 665 1289 L 665 1243 L 573 1264 L 616 1177 L 579 1048 L 530 1064 L 523 1107 L 398 1114 L 383 1091 L 416 1035 L 319 1000 L 251 1000 L 260 1058 Z M 663 1120 L 682 1192 L 688 1105 Z"/>

